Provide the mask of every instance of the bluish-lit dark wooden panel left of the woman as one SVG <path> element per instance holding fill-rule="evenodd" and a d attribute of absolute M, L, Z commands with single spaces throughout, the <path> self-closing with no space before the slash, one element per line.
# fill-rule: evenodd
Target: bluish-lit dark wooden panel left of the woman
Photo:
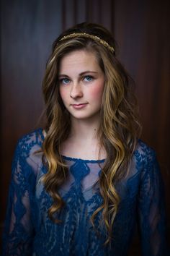
<path fill-rule="evenodd" d="M 42 76 L 62 30 L 61 7 L 61 1 L 1 1 L 1 221 L 14 147 L 42 111 Z"/>

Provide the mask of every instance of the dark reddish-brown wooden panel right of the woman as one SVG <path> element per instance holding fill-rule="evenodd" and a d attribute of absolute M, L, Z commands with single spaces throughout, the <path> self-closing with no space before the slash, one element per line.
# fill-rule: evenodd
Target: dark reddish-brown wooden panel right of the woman
<path fill-rule="evenodd" d="M 170 228 L 169 16 L 169 1 L 115 1 L 119 56 L 136 82 L 142 138 L 156 150 L 161 166 Z"/>

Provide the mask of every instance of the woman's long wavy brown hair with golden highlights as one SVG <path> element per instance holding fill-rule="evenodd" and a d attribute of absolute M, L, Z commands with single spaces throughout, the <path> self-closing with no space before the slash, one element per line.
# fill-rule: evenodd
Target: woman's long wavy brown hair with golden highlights
<path fill-rule="evenodd" d="M 84 35 L 61 40 L 71 33 L 96 35 L 109 43 L 109 46 L 113 47 L 115 51 L 110 51 L 98 40 L 86 38 Z M 101 148 L 104 147 L 107 153 L 107 158 L 99 176 L 102 205 L 92 214 L 91 223 L 94 226 L 95 217 L 102 211 L 102 221 L 107 230 L 105 242 L 107 244 L 112 237 L 113 223 L 120 203 L 115 182 L 128 174 L 130 159 L 140 135 L 140 124 L 138 122 L 138 107 L 133 93 L 133 80 L 117 59 L 114 38 L 101 25 L 81 23 L 66 30 L 53 43 L 53 50 L 48 59 L 42 82 L 47 120 L 42 152 L 44 162 L 48 166 L 48 172 L 43 176 L 42 182 L 44 182 L 46 191 L 53 198 L 53 205 L 48 209 L 48 215 L 55 223 L 59 223 L 60 220 L 55 218 L 55 213 L 63 208 L 65 202 L 63 202 L 58 189 L 68 176 L 68 167 L 61 156 L 61 143 L 70 134 L 71 119 L 63 106 L 59 93 L 58 70 L 63 56 L 77 50 L 94 53 L 105 76 L 98 138 Z"/>

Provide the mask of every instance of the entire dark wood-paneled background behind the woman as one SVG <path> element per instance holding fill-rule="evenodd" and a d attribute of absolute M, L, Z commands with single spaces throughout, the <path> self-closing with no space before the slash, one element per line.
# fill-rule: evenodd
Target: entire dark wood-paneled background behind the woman
<path fill-rule="evenodd" d="M 170 1 L 1 0 L 1 172 L 3 228 L 17 139 L 38 126 L 41 82 L 53 40 L 77 22 L 98 22 L 120 46 L 136 82 L 142 139 L 156 150 L 166 190 L 170 229 Z M 139 255 L 138 241 L 130 255 Z"/>

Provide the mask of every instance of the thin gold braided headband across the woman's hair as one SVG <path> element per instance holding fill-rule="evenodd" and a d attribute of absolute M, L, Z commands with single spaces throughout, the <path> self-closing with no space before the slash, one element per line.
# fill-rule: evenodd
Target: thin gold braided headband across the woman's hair
<path fill-rule="evenodd" d="M 59 42 L 63 41 L 63 40 L 66 40 L 66 39 L 69 39 L 69 38 L 76 38 L 77 36 L 81 36 L 81 35 L 83 35 L 86 38 L 91 38 L 93 40 L 96 40 L 97 42 L 101 43 L 103 46 L 108 48 L 109 51 L 111 51 L 112 53 L 115 51 L 115 49 L 112 46 L 109 46 L 109 43 L 102 40 L 97 35 L 90 35 L 90 34 L 87 34 L 87 33 L 72 33 L 70 35 L 65 35 L 65 36 L 63 36 L 63 38 L 61 38 L 61 40 L 59 40 Z"/>

